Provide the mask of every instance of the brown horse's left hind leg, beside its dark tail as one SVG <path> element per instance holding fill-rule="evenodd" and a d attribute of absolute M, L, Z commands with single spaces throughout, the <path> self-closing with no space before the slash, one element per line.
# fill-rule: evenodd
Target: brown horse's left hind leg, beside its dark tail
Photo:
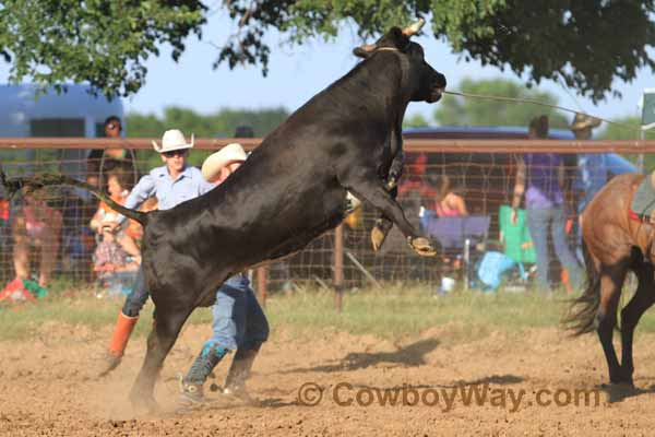
<path fill-rule="evenodd" d="M 614 329 L 617 326 L 617 309 L 627 273 L 628 267 L 624 262 L 618 262 L 609 268 L 606 267 L 600 272 L 600 306 L 596 312 L 596 321 L 598 338 L 603 345 L 603 352 L 605 352 L 611 383 L 619 383 L 621 380 L 621 366 L 611 340 Z"/>

